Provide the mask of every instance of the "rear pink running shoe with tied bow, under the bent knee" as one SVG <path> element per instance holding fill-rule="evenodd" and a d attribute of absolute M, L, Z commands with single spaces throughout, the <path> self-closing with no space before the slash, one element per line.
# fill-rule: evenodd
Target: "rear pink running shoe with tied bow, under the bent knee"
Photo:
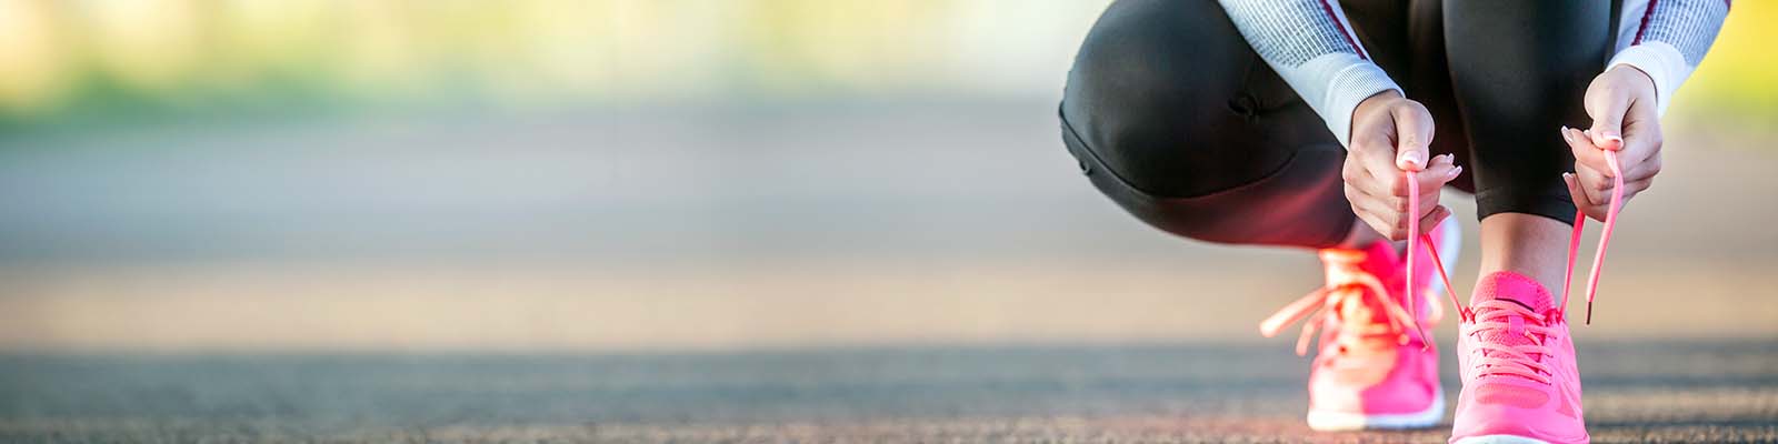
<path fill-rule="evenodd" d="M 1437 263 L 1456 263 L 1458 224 L 1440 224 L 1437 233 L 1428 236 L 1444 252 L 1446 259 Z M 1309 428 L 1424 428 L 1444 417 L 1438 350 L 1422 336 L 1422 327 L 1440 316 L 1430 288 L 1438 258 L 1430 256 L 1415 258 L 1410 293 L 1405 258 L 1387 242 L 1364 250 L 1321 250 L 1326 286 L 1261 323 L 1261 334 L 1271 337 L 1307 318 L 1298 355 L 1309 352 L 1316 329 L 1323 330 L 1309 369 Z"/>

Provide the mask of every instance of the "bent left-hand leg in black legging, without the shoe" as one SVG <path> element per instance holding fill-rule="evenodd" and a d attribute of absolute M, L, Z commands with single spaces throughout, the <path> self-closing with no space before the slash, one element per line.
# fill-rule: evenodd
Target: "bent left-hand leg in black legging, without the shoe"
<path fill-rule="evenodd" d="M 1213 2 L 1113 4 L 1060 114 L 1086 178 L 1163 231 L 1312 249 L 1367 231 L 1342 192 L 1344 149 Z"/>

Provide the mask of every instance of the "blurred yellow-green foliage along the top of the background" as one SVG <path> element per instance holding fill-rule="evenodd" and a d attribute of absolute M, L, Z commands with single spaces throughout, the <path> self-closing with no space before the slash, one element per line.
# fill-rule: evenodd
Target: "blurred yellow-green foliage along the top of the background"
<path fill-rule="evenodd" d="M 1104 4 L 0 0 L 0 123 L 439 99 L 1049 98 Z M 1773 25 L 1773 2 L 1737 2 L 1677 108 L 1778 119 Z"/>

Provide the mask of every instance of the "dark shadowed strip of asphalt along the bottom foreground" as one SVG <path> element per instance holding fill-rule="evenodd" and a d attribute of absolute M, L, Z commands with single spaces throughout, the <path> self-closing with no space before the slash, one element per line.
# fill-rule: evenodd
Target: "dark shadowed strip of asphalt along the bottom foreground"
<path fill-rule="evenodd" d="M 1778 345 L 1582 343 L 1595 442 L 1778 439 Z M 1456 391 L 1449 353 L 1446 389 Z M 1314 433 L 1273 345 L 7 355 L 5 442 L 1440 442 Z M 1453 396 L 1454 398 L 1454 396 Z"/>

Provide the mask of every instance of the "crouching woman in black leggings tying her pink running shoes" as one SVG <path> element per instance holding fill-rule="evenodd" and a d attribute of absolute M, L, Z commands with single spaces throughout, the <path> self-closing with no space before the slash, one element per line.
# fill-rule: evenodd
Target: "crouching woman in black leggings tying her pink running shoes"
<path fill-rule="evenodd" d="M 1261 325 L 1307 318 L 1298 353 L 1321 330 L 1316 430 L 1442 419 L 1426 297 L 1460 236 L 1438 197 L 1472 194 L 1481 281 L 1456 311 L 1451 440 L 1586 442 L 1572 243 L 1591 217 L 1607 222 L 1604 250 L 1616 210 L 1661 170 L 1659 115 L 1728 7 L 1122 0 L 1069 75 L 1063 140 L 1101 192 L 1163 231 L 1319 250 L 1326 286 Z"/>

